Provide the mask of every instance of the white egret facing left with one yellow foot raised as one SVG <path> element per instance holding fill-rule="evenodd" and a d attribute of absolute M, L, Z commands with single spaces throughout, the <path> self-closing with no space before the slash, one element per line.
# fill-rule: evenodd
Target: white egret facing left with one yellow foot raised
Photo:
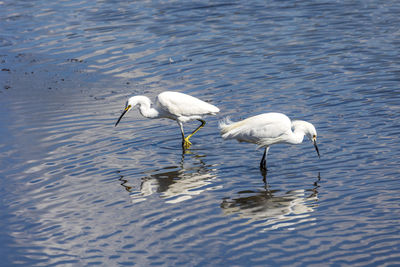
<path fill-rule="evenodd" d="M 133 96 L 126 101 L 125 109 L 119 117 L 115 126 L 121 121 L 122 117 L 135 106 L 139 106 L 139 112 L 146 118 L 157 119 L 167 118 L 175 120 L 182 133 L 182 148 L 187 149 L 191 146 L 189 138 L 192 137 L 206 122 L 202 119 L 206 115 L 216 115 L 219 108 L 206 103 L 193 96 L 179 92 L 162 92 L 156 98 L 156 104 L 151 107 L 152 102 L 146 96 Z M 197 127 L 191 134 L 185 137 L 183 131 L 183 123 L 198 120 L 201 125 Z"/>

